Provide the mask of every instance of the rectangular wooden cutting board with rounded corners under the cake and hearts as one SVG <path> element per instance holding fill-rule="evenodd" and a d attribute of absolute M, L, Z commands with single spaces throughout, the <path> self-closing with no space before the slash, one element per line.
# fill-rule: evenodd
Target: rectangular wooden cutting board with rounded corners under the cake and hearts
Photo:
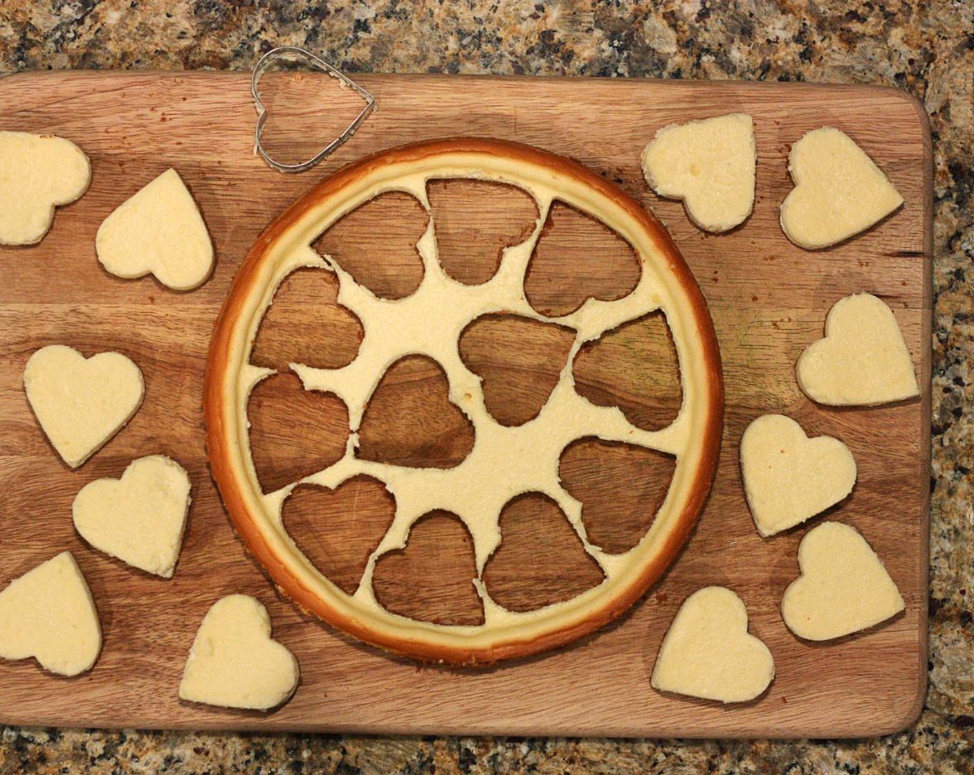
<path fill-rule="evenodd" d="M 296 78 L 272 101 L 269 142 L 311 155 L 316 133 L 354 115 L 354 98 L 326 78 Z M 34 248 L 0 249 L 0 585 L 57 552 L 74 553 L 104 631 L 94 670 L 53 678 L 32 661 L 0 665 L 0 721 L 11 724 L 198 729 L 611 736 L 861 736 L 918 716 L 926 677 L 930 446 L 931 150 L 925 114 L 892 90 L 798 84 L 369 75 L 378 111 L 313 172 L 281 175 L 251 154 L 255 120 L 241 73 L 29 73 L 0 82 L 0 129 L 68 137 L 91 156 L 93 182 L 60 209 Z M 283 83 L 283 82 L 282 82 Z M 728 112 L 754 117 L 758 186 L 751 218 L 730 234 L 698 231 L 679 203 L 650 193 L 639 154 L 657 129 Z M 329 124 L 330 122 L 330 124 Z M 327 125 L 327 126 L 326 126 Z M 777 224 L 791 188 L 790 144 L 823 125 L 872 156 L 906 204 L 840 247 L 805 252 Z M 390 657 L 300 614 L 245 553 L 209 479 L 201 389 L 209 334 L 257 234 L 321 176 L 356 158 L 433 136 L 496 136 L 579 159 L 616 180 L 669 228 L 707 298 L 720 340 L 727 413 L 719 470 L 693 537 L 662 581 L 615 625 L 574 645 L 492 670 L 455 670 Z M 198 291 L 101 270 L 101 220 L 145 182 L 175 167 L 212 235 L 217 265 Z M 570 270 L 567 270 L 570 271 Z M 891 407 L 818 407 L 793 365 L 822 335 L 831 305 L 870 291 L 892 307 L 922 397 Z M 127 353 L 146 399 L 130 424 L 80 470 L 48 445 L 21 387 L 37 348 Z M 837 436 L 859 466 L 851 497 L 829 518 L 870 541 L 906 611 L 834 643 L 793 637 L 778 604 L 796 576 L 799 528 L 762 539 L 743 499 L 740 435 L 754 417 L 788 413 L 811 434 Z M 118 477 L 131 459 L 171 455 L 189 471 L 193 505 L 174 578 L 131 570 L 74 532 L 81 486 Z M 624 487 L 625 483 L 618 483 Z M 819 522 L 821 518 L 819 518 Z M 756 702 L 722 707 L 650 687 L 656 652 L 694 590 L 720 584 L 748 607 L 751 632 L 777 675 Z M 181 703 L 186 654 L 208 606 L 243 592 L 269 608 L 275 637 L 301 664 L 294 698 L 271 714 Z"/>

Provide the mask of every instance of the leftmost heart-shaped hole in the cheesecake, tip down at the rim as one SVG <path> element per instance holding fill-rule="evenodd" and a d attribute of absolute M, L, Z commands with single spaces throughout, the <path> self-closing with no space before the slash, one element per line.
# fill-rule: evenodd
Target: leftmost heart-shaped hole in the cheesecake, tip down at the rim
<path fill-rule="evenodd" d="M 345 402 L 305 390 L 294 374 L 272 374 L 258 382 L 250 392 L 247 418 L 253 465 L 264 492 L 321 471 L 345 454 Z"/>

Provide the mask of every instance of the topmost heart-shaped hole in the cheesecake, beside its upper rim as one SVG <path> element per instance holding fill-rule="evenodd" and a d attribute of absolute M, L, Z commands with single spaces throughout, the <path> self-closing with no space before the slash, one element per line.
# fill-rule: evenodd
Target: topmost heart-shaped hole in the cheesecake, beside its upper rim
<path fill-rule="evenodd" d="M 506 183 L 433 179 L 427 195 L 440 266 L 468 286 L 494 277 L 505 248 L 524 242 L 538 222 L 538 203 Z"/>

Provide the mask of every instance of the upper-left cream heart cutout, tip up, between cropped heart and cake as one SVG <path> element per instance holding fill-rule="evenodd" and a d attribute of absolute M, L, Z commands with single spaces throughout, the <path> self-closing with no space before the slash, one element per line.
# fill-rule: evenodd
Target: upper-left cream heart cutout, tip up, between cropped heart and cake
<path fill-rule="evenodd" d="M 213 271 L 213 244 L 203 215 L 172 169 L 102 221 L 94 250 L 110 274 L 134 279 L 151 273 L 173 291 L 199 288 Z"/>

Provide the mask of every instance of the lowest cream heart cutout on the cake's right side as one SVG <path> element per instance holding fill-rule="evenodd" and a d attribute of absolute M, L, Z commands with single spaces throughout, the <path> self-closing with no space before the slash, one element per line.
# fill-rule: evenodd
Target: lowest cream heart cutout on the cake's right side
<path fill-rule="evenodd" d="M 705 587 L 677 611 L 650 682 L 660 691 L 731 703 L 758 697 L 772 678 L 774 658 L 747 632 L 744 602 L 724 587 Z"/>

